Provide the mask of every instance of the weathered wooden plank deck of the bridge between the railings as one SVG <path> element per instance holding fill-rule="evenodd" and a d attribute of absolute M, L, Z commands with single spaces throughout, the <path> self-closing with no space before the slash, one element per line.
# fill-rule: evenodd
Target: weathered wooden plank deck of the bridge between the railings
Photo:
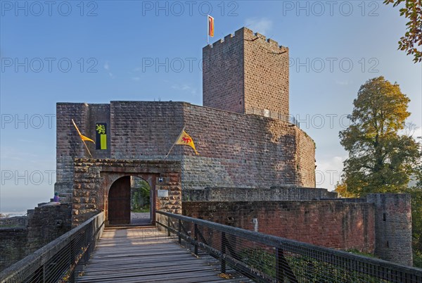
<path fill-rule="evenodd" d="M 250 282 L 219 276 L 217 260 L 193 256 L 155 227 L 106 229 L 76 282 Z"/>

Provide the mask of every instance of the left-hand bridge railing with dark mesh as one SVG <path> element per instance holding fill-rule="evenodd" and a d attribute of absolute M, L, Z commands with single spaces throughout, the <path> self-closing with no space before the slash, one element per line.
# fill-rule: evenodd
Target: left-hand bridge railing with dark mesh
<path fill-rule="evenodd" d="M 74 282 L 87 263 L 104 229 L 104 213 L 78 227 L 0 273 L 0 282 Z"/>

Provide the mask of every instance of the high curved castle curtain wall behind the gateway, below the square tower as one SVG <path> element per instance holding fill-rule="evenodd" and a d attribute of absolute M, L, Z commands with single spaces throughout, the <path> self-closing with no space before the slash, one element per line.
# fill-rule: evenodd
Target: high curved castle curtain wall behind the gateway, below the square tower
<path fill-rule="evenodd" d="M 94 113 L 100 106 L 103 111 L 97 117 Z M 75 106 L 88 109 L 79 128 L 89 137 L 95 136 L 96 122 L 106 121 L 107 108 L 100 106 Z M 58 103 L 62 134 L 58 136 L 56 189 L 60 196 L 72 191 L 72 158 L 88 157 L 69 122 L 75 107 Z M 164 160 L 186 127 L 200 155 L 188 146 L 174 146 L 167 158 L 181 163 L 183 189 L 315 186 L 314 142 L 288 122 L 181 102 L 111 101 L 109 114 L 109 153 L 87 143 L 94 158 Z"/>

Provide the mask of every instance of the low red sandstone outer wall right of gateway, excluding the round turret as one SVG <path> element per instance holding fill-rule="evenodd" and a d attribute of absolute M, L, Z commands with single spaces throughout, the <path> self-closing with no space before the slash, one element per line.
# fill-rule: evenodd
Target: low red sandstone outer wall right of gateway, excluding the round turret
<path fill-rule="evenodd" d="M 375 213 L 370 203 L 340 201 L 184 202 L 184 215 L 333 249 L 373 252 Z"/>

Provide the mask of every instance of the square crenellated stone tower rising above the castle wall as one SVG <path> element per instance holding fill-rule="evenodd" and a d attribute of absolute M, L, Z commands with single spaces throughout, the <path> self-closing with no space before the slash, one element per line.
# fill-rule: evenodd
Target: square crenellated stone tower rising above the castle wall
<path fill-rule="evenodd" d="M 203 106 L 288 117 L 288 48 L 246 27 L 203 48 Z"/>

